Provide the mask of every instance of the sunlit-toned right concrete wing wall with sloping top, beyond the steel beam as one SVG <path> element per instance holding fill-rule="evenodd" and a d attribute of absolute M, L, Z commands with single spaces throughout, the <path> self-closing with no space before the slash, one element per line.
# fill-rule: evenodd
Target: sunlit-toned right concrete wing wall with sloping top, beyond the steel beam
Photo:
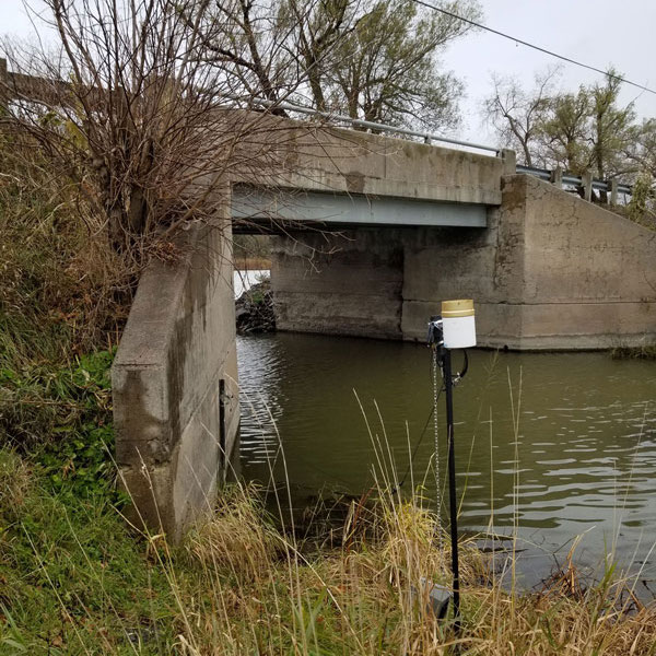
<path fill-rule="evenodd" d="M 513 347 L 656 342 L 655 232 L 529 176 L 506 180 L 502 215 L 523 271 L 505 298 Z"/>

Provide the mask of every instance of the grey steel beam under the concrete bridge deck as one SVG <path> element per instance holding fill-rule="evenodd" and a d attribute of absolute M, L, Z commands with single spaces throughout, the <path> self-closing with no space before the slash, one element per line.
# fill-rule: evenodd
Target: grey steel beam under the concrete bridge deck
<path fill-rule="evenodd" d="M 337 226 L 487 227 L 487 206 L 393 197 L 281 191 L 234 186 L 235 232 L 261 232 L 305 224 Z"/>

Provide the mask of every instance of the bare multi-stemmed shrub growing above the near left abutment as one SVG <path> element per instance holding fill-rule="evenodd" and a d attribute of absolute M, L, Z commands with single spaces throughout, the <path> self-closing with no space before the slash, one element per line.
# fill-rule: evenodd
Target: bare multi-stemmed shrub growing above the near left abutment
<path fill-rule="evenodd" d="M 1 122 L 38 144 L 118 253 L 144 261 L 215 216 L 231 176 L 280 162 L 289 129 L 224 106 L 232 81 L 199 30 L 208 0 L 44 1 L 60 49 L 4 48 Z"/>

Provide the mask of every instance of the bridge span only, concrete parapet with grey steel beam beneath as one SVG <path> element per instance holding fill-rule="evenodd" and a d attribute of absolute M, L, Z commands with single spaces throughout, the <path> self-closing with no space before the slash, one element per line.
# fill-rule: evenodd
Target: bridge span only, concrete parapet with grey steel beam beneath
<path fill-rule="evenodd" d="M 491 157 L 367 133 L 326 130 L 302 147 L 296 169 L 273 189 L 232 185 L 238 232 L 335 227 L 485 227 L 501 204 L 502 173 L 515 173 L 512 151 Z"/>

